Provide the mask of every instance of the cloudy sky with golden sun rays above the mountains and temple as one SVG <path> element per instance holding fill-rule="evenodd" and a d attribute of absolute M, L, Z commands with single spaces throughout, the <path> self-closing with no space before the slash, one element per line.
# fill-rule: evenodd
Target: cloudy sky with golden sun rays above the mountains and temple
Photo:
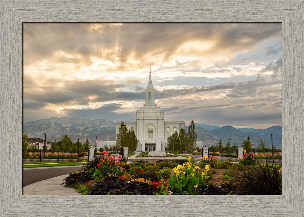
<path fill-rule="evenodd" d="M 134 121 L 151 66 L 165 120 L 281 125 L 281 23 L 24 23 L 23 121 Z"/>

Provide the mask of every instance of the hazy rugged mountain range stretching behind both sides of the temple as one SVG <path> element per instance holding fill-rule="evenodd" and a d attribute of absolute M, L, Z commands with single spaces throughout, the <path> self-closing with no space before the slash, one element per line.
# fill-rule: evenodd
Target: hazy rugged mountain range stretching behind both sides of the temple
<path fill-rule="evenodd" d="M 188 126 L 185 125 L 185 130 Z M 267 129 L 255 128 L 235 128 L 232 126 L 214 126 L 195 123 L 195 132 L 197 141 L 203 141 L 206 145 L 216 145 L 219 139 L 224 144 L 231 139 L 237 146 L 250 137 L 253 147 L 257 147 L 260 140 L 265 140 L 265 145 L 271 147 L 271 136 L 273 133 L 273 145 L 277 148 L 282 146 L 282 127 L 272 126 Z M 68 117 L 51 117 L 47 119 L 29 121 L 23 124 L 23 133 L 28 135 L 28 138 L 43 138 L 43 133 L 47 133 L 47 141 L 54 141 L 57 138 L 59 141 L 64 134 L 67 134 L 72 141 L 84 143 L 86 139 L 91 144 L 95 144 L 95 138 L 99 141 L 115 141 L 115 122 L 106 119 L 80 119 Z"/>

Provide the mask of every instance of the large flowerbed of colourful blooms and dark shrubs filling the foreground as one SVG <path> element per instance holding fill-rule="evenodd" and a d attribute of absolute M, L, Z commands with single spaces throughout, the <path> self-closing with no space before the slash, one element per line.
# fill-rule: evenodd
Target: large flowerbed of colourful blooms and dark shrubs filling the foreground
<path fill-rule="evenodd" d="M 281 195 L 280 164 L 260 164 L 250 152 L 238 163 L 216 156 L 169 161 L 136 161 L 119 155 L 95 157 L 62 183 L 83 195 Z"/>

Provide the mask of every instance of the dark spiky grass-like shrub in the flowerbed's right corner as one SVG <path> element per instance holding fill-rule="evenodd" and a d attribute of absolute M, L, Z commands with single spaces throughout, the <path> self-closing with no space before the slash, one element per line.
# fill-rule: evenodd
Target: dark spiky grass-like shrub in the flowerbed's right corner
<path fill-rule="evenodd" d="M 281 166 L 280 166 L 281 167 Z M 258 163 L 237 175 L 240 188 L 251 195 L 281 195 L 282 168 Z"/>

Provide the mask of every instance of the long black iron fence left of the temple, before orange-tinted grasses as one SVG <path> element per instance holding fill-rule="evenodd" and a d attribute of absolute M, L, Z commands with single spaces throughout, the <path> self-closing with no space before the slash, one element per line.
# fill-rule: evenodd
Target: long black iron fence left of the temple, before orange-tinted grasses
<path fill-rule="evenodd" d="M 62 162 L 62 161 L 88 161 L 89 151 L 75 150 L 28 150 L 23 156 L 23 162 Z"/>

